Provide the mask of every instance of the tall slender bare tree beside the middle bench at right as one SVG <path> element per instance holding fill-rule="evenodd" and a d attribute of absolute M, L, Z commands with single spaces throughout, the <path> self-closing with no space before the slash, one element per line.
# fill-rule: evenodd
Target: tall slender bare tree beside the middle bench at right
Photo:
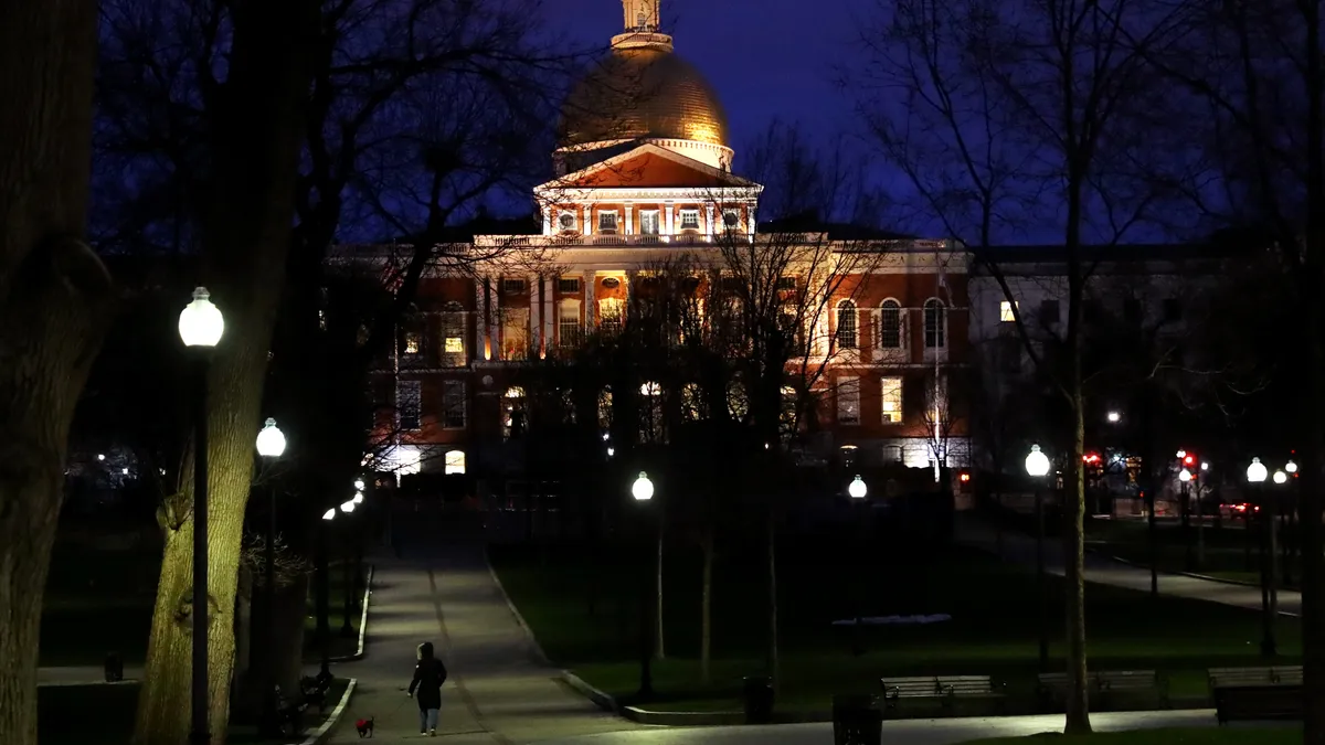
<path fill-rule="evenodd" d="M 949 235 L 980 247 L 995 243 L 1004 225 L 1035 217 L 1061 229 L 1068 308 L 1052 355 L 1028 335 L 996 260 L 986 268 L 1011 304 L 1035 366 L 1052 376 L 1073 412 L 1064 453 L 1072 683 L 1065 729 L 1089 732 L 1081 326 L 1094 266 L 1083 247 L 1094 235 L 1101 236 L 1097 243 L 1121 240 L 1149 217 L 1173 180 L 1150 170 L 1167 160 L 1146 156 L 1163 141 L 1166 107 L 1138 49 L 1170 40 L 1178 19 L 1128 0 L 906 0 L 881 4 L 877 19 L 863 33 L 873 64 L 857 81 L 860 105 L 924 208 Z M 898 90 L 905 91 L 905 114 L 874 98 Z"/>

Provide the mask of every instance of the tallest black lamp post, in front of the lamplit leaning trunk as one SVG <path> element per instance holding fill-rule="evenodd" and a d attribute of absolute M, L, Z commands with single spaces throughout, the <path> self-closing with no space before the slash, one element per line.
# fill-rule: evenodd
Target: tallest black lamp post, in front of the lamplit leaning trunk
<path fill-rule="evenodd" d="M 193 676 L 189 691 L 189 742 L 207 745 L 208 720 L 207 624 L 207 369 L 211 351 L 225 333 L 225 318 L 212 305 L 207 288 L 193 290 L 193 301 L 179 314 L 179 338 L 195 350 L 197 392 L 193 396 Z"/>

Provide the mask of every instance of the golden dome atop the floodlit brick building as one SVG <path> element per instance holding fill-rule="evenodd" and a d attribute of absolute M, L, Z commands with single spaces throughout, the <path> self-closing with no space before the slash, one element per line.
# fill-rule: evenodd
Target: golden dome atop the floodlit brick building
<path fill-rule="evenodd" d="M 718 94 L 668 49 L 613 49 L 575 86 L 562 110 L 560 146 L 616 139 L 688 139 L 727 146 Z"/>

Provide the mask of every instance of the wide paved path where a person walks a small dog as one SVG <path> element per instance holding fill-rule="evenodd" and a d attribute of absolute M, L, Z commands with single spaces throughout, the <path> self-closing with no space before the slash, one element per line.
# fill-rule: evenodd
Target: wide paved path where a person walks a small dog
<path fill-rule="evenodd" d="M 535 661 L 484 558 L 482 530 L 465 517 L 399 513 L 401 555 L 374 559 L 367 656 L 335 665 L 360 688 L 331 742 L 359 742 L 354 720 L 376 718 L 376 740 L 416 740 L 419 709 L 401 691 L 415 647 L 431 640 L 450 677 L 435 741 L 523 745 L 639 725 L 602 712 Z"/>

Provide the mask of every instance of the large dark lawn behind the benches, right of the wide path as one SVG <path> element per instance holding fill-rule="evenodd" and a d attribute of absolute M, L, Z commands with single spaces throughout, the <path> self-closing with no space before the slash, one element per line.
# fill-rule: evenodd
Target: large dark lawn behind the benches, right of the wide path
<path fill-rule="evenodd" d="M 890 554 L 823 540 L 779 550 L 782 689 L 779 708 L 827 709 L 833 693 L 877 692 L 882 675 L 994 675 L 1014 705 L 1028 707 L 1036 660 L 1035 578 L 992 558 L 935 547 Z M 560 557 L 560 558 L 558 558 Z M 492 561 L 543 650 L 598 688 L 629 700 L 639 681 L 637 579 L 643 551 L 590 561 L 571 550 L 497 547 Z M 599 577 L 595 612 L 590 578 Z M 714 567 L 713 681 L 700 681 L 700 555 L 670 551 L 664 570 L 666 659 L 655 665 L 660 709 L 737 709 L 741 679 L 766 672 L 765 573 L 757 550 L 729 550 Z M 1051 579 L 1052 655 L 1061 646 L 1061 583 Z M 949 614 L 929 626 L 867 628 L 863 654 L 835 619 Z M 1257 664 L 1255 612 L 1110 587 L 1088 590 L 1094 669 L 1167 673 L 1175 697 L 1203 696 L 1208 667 Z M 1297 628 L 1281 626 L 1281 650 L 1300 654 Z M 1055 663 L 1055 669 L 1061 667 Z"/>

